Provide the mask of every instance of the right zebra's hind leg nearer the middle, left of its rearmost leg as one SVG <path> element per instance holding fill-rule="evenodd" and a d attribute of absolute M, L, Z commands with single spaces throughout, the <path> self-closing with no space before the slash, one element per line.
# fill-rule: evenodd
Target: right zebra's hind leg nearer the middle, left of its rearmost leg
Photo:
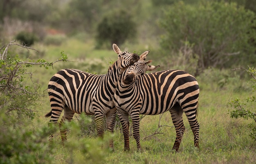
<path fill-rule="evenodd" d="M 176 139 L 173 145 L 173 150 L 178 151 L 180 148 L 180 143 L 185 131 L 185 126 L 183 124 L 183 111 L 180 107 L 179 104 L 175 104 L 173 108 L 170 110 L 171 117 L 173 120 L 173 124 L 175 126 L 175 131 L 176 131 Z"/>

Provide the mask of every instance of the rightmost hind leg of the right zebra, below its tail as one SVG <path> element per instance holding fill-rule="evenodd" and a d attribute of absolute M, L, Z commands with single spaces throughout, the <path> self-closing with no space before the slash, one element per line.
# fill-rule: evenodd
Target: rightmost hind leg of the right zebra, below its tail
<path fill-rule="evenodd" d="M 195 108 L 191 109 L 191 107 L 188 107 L 187 109 L 183 109 L 186 117 L 189 120 L 189 125 L 192 129 L 193 135 L 194 135 L 194 145 L 195 147 L 199 148 L 199 123 L 196 119 L 197 115 L 197 102 L 195 103 L 196 105 L 194 106 Z"/>

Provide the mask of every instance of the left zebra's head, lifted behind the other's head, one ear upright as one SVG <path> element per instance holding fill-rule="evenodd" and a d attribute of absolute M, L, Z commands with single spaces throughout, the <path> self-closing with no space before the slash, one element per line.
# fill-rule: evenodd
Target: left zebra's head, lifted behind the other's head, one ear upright
<path fill-rule="evenodd" d="M 137 55 L 136 53 L 129 53 L 126 51 L 122 52 L 117 44 L 113 44 L 112 47 L 115 53 L 118 54 L 117 67 L 120 71 L 120 74 L 123 73 L 128 66 L 134 64 L 139 60 L 139 55 Z"/>

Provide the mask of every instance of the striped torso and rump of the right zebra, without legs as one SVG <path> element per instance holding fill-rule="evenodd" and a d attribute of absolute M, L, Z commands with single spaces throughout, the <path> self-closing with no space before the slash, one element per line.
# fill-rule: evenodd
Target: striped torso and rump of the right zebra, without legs
<path fill-rule="evenodd" d="M 186 102 L 198 100 L 198 82 L 185 71 L 146 73 L 136 82 L 142 99 L 140 114 L 156 115 L 170 110 L 175 103 L 185 108 Z"/>

